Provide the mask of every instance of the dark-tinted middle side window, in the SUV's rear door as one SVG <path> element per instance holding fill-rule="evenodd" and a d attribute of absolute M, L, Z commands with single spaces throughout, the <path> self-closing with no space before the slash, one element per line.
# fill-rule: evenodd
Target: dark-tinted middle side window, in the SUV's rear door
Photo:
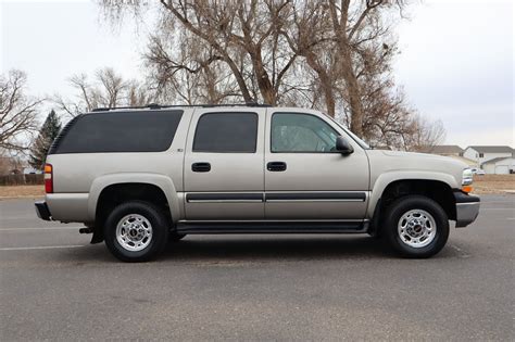
<path fill-rule="evenodd" d="M 256 113 L 208 113 L 197 123 L 193 152 L 254 153 Z"/>

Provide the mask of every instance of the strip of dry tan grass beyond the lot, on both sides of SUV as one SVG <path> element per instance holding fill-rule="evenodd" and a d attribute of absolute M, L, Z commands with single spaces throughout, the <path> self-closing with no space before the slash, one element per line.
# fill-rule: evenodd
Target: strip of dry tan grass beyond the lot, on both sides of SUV
<path fill-rule="evenodd" d="M 474 177 L 474 192 L 506 193 L 515 192 L 515 175 L 485 175 Z M 39 198 L 45 195 L 43 186 L 5 186 L 0 187 L 0 199 Z"/>

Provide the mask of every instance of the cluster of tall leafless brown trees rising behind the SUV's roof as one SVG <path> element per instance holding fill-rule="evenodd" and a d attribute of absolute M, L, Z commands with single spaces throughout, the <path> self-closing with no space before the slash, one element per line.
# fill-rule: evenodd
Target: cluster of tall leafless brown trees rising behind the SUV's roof
<path fill-rule="evenodd" d="M 103 0 L 120 17 L 141 3 Z M 160 0 L 145 55 L 160 99 L 309 106 L 374 144 L 407 149 L 423 119 L 395 86 L 404 0 Z M 416 139 L 415 139 L 416 140 Z"/>

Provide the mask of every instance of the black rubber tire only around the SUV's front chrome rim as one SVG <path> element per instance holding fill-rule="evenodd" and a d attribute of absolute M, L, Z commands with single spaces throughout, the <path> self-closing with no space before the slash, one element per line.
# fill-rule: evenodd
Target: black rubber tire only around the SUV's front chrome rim
<path fill-rule="evenodd" d="M 404 214 L 413 210 L 425 211 L 432 216 L 436 223 L 435 236 L 427 245 L 415 248 L 407 244 L 410 242 L 404 242 L 401 239 L 398 228 L 399 221 Z M 430 257 L 440 252 L 445 245 L 449 238 L 449 218 L 443 208 L 434 200 L 423 195 L 406 195 L 398 199 L 385 212 L 385 238 L 388 244 L 402 256 L 411 258 Z"/>

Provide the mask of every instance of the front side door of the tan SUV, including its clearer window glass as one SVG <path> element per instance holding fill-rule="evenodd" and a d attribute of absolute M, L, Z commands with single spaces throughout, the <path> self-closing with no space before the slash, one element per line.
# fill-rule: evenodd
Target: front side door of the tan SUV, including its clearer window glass
<path fill-rule="evenodd" d="M 343 136 L 354 153 L 336 152 Z M 265 218 L 363 219 L 368 159 L 341 128 L 315 111 L 266 114 Z"/>

